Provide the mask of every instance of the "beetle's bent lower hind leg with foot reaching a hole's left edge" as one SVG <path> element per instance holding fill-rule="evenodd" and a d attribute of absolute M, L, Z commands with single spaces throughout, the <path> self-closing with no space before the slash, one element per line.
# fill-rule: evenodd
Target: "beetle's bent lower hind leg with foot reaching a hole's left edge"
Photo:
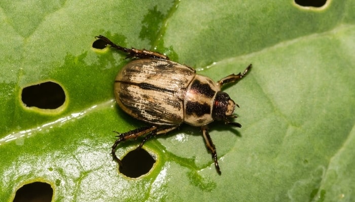
<path fill-rule="evenodd" d="M 115 133 L 119 134 L 116 136 L 118 137 L 118 139 L 116 139 L 114 145 L 112 145 L 111 154 L 112 157 L 114 158 L 114 161 L 116 161 L 120 166 L 122 166 L 121 160 L 116 156 L 116 148 L 120 142 L 124 142 L 127 139 L 131 139 L 131 138 L 137 138 L 147 133 L 154 133 L 157 129 L 158 129 L 157 126 L 148 126 L 148 127 L 142 127 L 135 130 L 131 130 L 122 134 L 117 131 L 114 131 Z"/>

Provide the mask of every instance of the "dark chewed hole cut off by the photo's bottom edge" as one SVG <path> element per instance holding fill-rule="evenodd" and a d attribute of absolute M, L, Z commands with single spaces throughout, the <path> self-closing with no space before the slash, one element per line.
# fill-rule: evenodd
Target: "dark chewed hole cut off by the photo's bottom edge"
<path fill-rule="evenodd" d="M 25 184 L 16 191 L 14 202 L 20 201 L 52 201 L 53 188 L 45 182 Z"/>

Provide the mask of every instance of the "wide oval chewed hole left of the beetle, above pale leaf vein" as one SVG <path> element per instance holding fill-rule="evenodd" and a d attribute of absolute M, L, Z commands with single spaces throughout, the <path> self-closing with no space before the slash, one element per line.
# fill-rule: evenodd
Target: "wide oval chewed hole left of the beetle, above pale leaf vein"
<path fill-rule="evenodd" d="M 21 92 L 21 100 L 26 107 L 40 109 L 57 109 L 64 104 L 65 98 L 63 88 L 52 81 L 24 87 Z"/>

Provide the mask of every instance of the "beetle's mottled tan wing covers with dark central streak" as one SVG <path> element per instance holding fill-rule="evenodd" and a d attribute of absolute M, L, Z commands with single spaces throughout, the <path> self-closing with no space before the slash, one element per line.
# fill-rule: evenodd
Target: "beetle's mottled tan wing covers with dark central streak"
<path fill-rule="evenodd" d="M 178 125 L 184 121 L 184 94 L 194 76 L 194 69 L 171 61 L 135 60 L 116 77 L 116 100 L 137 119 Z"/>

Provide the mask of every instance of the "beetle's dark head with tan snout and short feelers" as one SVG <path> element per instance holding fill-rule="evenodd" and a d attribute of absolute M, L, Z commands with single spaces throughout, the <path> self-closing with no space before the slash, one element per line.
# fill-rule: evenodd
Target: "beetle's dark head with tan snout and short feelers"
<path fill-rule="evenodd" d="M 214 120 L 223 120 L 226 124 L 241 127 L 239 123 L 230 122 L 228 118 L 236 118 L 233 115 L 235 106 L 239 107 L 225 92 L 217 92 L 214 107 L 212 109 L 212 118 Z"/>

